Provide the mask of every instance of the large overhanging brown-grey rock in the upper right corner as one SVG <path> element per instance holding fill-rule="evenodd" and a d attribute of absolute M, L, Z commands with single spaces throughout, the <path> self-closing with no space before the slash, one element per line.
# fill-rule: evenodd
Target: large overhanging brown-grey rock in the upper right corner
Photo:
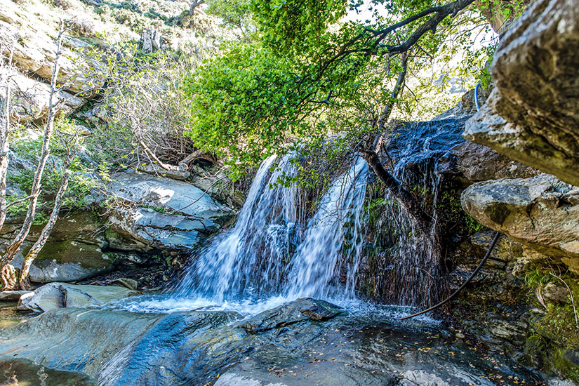
<path fill-rule="evenodd" d="M 579 185 L 579 7 L 538 0 L 500 41 L 495 89 L 464 137 Z"/>

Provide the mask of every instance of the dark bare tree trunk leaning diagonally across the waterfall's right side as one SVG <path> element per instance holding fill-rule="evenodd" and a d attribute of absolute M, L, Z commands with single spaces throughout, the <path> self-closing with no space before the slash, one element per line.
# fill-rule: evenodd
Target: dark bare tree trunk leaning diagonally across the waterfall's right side
<path fill-rule="evenodd" d="M 361 149 L 360 153 L 362 157 L 366 160 L 368 165 L 372 168 L 374 173 L 378 175 L 378 178 L 385 183 L 387 189 L 390 189 L 390 192 L 394 194 L 394 197 L 400 203 L 401 206 L 404 206 L 406 211 L 418 224 L 418 227 L 424 234 L 428 234 L 430 224 L 432 223 L 432 218 L 428 215 L 425 211 L 422 210 L 422 204 L 420 201 L 415 199 L 415 197 L 408 192 L 408 190 L 404 189 L 402 183 L 394 178 L 394 176 L 386 171 L 380 159 L 378 159 L 378 154 L 373 151 L 368 151 Z"/>

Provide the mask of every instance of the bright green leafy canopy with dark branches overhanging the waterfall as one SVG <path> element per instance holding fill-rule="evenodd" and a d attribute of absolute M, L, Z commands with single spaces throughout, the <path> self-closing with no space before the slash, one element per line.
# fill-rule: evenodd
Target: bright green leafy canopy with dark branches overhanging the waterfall
<path fill-rule="evenodd" d="M 215 0 L 217 1 L 217 0 Z M 233 178 L 298 141 L 322 142 L 340 131 L 376 129 L 401 71 L 401 53 L 415 72 L 432 65 L 480 15 L 474 0 L 372 0 L 365 22 L 344 21 L 361 3 L 343 0 L 253 0 L 259 39 L 230 42 L 183 86 L 191 100 L 187 135 L 232 166 Z M 469 16 L 453 16 L 463 8 Z M 450 57 L 448 58 L 450 60 Z"/>

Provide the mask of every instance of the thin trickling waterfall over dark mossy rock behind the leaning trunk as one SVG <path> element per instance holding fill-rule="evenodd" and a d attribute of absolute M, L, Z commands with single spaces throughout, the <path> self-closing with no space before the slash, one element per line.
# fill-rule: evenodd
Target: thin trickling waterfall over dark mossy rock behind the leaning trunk
<path fill-rule="evenodd" d="M 420 197 L 433 224 L 425 236 L 389 191 L 376 192 L 383 204 L 375 223 L 368 224 L 373 237 L 364 251 L 366 266 L 359 280 L 367 293 L 383 302 L 425 307 L 446 291 L 437 244 L 439 160 L 463 142 L 462 128 L 464 119 L 413 122 L 398 128 L 386 147 L 392 174 Z"/>

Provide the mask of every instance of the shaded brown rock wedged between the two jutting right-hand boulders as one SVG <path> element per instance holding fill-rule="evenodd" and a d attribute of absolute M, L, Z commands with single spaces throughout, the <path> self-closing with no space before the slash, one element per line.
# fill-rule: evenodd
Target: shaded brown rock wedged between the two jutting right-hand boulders
<path fill-rule="evenodd" d="M 453 147 L 456 168 L 473 182 L 498 180 L 499 178 L 528 178 L 538 175 L 535 169 L 513 161 L 490 147 L 463 142 Z"/>

